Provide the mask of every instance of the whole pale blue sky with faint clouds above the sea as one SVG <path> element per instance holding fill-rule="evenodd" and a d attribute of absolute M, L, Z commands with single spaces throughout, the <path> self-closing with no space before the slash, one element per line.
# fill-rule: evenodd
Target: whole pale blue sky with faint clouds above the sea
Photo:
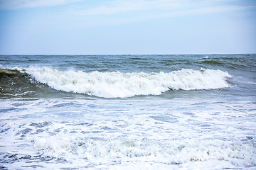
<path fill-rule="evenodd" d="M 256 53 L 255 0 L 0 0 L 0 55 Z"/>

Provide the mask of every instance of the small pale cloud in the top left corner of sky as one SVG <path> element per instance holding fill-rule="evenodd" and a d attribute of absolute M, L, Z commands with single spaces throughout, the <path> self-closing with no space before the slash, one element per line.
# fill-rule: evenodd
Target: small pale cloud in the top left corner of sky
<path fill-rule="evenodd" d="M 34 8 L 39 6 L 58 6 L 83 0 L 0 0 L 0 9 Z"/>

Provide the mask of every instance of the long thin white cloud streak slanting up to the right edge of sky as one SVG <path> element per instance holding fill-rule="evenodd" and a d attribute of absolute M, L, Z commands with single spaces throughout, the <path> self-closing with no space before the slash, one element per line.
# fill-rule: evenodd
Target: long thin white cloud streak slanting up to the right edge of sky
<path fill-rule="evenodd" d="M 110 15 L 109 17 L 105 16 L 102 18 L 95 18 L 94 20 L 87 20 L 87 17 L 92 17 L 88 13 L 69 13 L 69 16 L 74 18 L 80 18 L 79 28 L 92 28 L 99 26 L 116 26 L 127 23 L 137 23 L 141 21 L 151 21 L 161 18 L 176 18 L 182 16 L 203 16 L 211 13 L 225 13 L 225 12 L 234 12 L 242 11 L 256 8 L 256 6 L 215 6 L 215 7 L 202 7 L 202 8 L 193 8 L 193 9 L 179 9 L 179 10 L 166 10 L 161 11 L 161 13 L 137 13 L 135 15 L 118 15 L 122 11 L 116 11 L 115 15 Z M 97 13 L 95 16 L 104 15 Z M 79 17 L 80 16 L 80 17 Z M 75 25 L 75 24 L 74 24 Z"/>

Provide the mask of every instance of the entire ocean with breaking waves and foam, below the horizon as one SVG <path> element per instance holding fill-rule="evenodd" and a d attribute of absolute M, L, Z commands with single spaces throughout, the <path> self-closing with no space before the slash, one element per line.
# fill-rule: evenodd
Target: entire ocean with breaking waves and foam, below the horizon
<path fill-rule="evenodd" d="M 1 55 L 0 169 L 256 169 L 256 55 Z"/>

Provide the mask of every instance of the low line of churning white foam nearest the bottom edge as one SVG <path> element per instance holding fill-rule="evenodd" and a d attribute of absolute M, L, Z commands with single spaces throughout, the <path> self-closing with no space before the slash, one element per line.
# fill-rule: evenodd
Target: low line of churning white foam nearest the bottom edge
<path fill-rule="evenodd" d="M 242 142 L 222 140 L 103 140 L 82 137 L 36 138 L 34 147 L 46 157 L 87 159 L 93 164 L 108 162 L 159 162 L 183 164 L 224 160 L 238 166 L 256 166 L 254 148 Z"/>

